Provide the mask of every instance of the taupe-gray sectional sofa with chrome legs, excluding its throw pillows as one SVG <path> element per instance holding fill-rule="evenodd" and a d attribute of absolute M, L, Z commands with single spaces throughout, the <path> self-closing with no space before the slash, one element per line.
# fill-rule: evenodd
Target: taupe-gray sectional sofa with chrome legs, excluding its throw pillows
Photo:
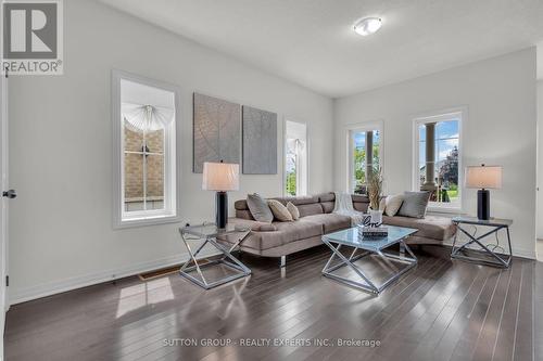
<path fill-rule="evenodd" d="M 353 195 L 353 207 L 366 212 L 369 199 L 364 195 Z M 324 193 L 305 197 L 274 198 L 282 204 L 292 202 L 300 210 L 300 219 L 292 222 L 269 223 L 257 222 L 251 216 L 244 199 L 236 201 L 236 218 L 229 223 L 243 224 L 251 228 L 251 234 L 241 245 L 241 250 L 264 256 L 282 257 L 317 245 L 321 245 L 323 234 L 336 232 L 351 227 L 351 218 L 332 214 L 336 196 Z M 426 216 L 422 219 L 408 217 L 387 217 L 383 223 L 390 225 L 418 229 L 408 244 L 442 244 L 456 233 L 456 227 L 450 218 Z M 233 244 L 237 235 L 223 236 L 220 241 Z"/>

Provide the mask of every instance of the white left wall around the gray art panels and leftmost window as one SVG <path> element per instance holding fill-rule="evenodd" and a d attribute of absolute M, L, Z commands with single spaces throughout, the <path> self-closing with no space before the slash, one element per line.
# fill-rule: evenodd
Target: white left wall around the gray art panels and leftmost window
<path fill-rule="evenodd" d="M 332 101 L 94 1 L 64 1 L 64 76 L 13 77 L 10 89 L 12 301 L 184 258 L 179 224 L 112 229 L 113 68 L 179 86 L 181 216 L 213 220 L 214 194 L 192 168 L 192 92 L 308 125 L 310 192 L 332 188 Z M 242 176 L 241 191 L 282 194 L 277 176 Z M 232 202 L 231 202 L 232 203 Z"/>

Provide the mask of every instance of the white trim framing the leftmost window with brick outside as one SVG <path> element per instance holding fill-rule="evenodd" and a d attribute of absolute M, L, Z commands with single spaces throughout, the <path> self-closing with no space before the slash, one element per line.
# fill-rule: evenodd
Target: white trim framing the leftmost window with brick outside
<path fill-rule="evenodd" d="M 121 80 L 128 80 L 146 85 L 153 88 L 160 88 L 171 91 L 175 94 L 175 124 L 172 124 L 171 131 L 166 131 L 166 139 L 164 150 L 169 147 L 169 152 L 164 152 L 164 186 L 165 192 L 164 204 L 165 209 L 171 211 L 160 210 L 146 210 L 146 211 L 130 211 L 130 216 L 124 218 L 124 131 L 121 119 Z M 112 70 L 112 125 L 113 125 L 113 228 L 132 228 L 142 225 L 153 225 L 179 222 L 180 218 L 180 192 L 179 184 L 181 179 L 181 164 L 180 164 L 180 114 L 179 106 L 179 88 L 166 82 L 149 79 L 123 70 Z M 169 134 L 175 134 L 171 138 Z M 173 157 L 167 156 L 173 154 Z M 166 159 L 167 157 L 167 159 Z M 166 194 L 174 194 L 173 197 L 166 199 Z"/>

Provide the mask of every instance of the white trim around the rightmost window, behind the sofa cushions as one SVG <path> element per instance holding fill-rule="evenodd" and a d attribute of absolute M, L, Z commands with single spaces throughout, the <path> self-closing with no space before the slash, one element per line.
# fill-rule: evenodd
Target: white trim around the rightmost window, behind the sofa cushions
<path fill-rule="evenodd" d="M 431 113 L 420 114 L 413 118 L 413 159 L 412 159 L 412 191 L 419 192 L 419 172 L 418 172 L 418 159 L 419 159 L 419 126 L 433 123 L 433 121 L 446 121 L 451 118 L 459 118 L 458 124 L 458 206 L 450 206 L 445 203 L 430 202 L 428 205 L 428 211 L 431 212 L 443 212 L 443 214 L 458 214 L 464 209 L 464 168 L 463 168 L 463 139 L 464 139 L 464 125 L 468 118 L 467 106 L 446 108 L 442 111 L 435 111 Z"/>

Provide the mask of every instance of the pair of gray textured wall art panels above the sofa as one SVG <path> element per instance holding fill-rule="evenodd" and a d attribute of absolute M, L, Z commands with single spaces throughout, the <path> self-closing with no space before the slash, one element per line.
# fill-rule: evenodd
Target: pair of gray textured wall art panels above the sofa
<path fill-rule="evenodd" d="M 192 144 L 195 173 L 204 162 L 224 160 L 244 175 L 277 175 L 276 113 L 194 93 Z"/>

